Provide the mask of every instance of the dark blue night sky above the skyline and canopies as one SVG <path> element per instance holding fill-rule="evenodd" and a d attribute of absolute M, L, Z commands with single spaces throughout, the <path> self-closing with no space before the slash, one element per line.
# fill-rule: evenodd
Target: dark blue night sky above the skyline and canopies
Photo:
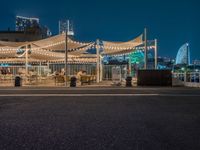
<path fill-rule="evenodd" d="M 1 0 L 0 30 L 14 29 L 15 16 L 39 17 L 53 34 L 59 19 L 73 20 L 76 38 L 126 41 L 148 28 L 159 41 L 159 55 L 175 58 L 185 42 L 200 59 L 198 0 Z"/>

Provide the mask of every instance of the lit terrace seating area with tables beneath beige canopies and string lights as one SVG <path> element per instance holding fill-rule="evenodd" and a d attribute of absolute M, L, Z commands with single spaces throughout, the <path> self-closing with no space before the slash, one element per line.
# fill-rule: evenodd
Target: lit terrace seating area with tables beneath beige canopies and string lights
<path fill-rule="evenodd" d="M 131 72 L 131 61 L 108 66 L 104 65 L 104 58 L 145 50 L 147 41 L 143 41 L 143 36 L 127 42 L 79 42 L 62 33 L 32 42 L 0 41 L 0 64 L 4 68 L 0 86 L 14 85 L 16 76 L 21 78 L 22 86 L 69 86 L 72 77 L 76 77 L 78 86 L 113 81 L 113 77 L 121 82 Z M 156 40 L 148 46 L 157 51 Z M 120 69 L 113 73 L 115 67 Z"/>

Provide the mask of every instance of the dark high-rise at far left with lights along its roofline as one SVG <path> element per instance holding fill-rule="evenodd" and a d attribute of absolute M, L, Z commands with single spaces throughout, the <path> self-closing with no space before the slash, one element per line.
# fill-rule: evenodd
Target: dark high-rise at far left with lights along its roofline
<path fill-rule="evenodd" d="M 39 27 L 38 18 L 16 16 L 16 31 L 25 31 L 28 28 Z"/>

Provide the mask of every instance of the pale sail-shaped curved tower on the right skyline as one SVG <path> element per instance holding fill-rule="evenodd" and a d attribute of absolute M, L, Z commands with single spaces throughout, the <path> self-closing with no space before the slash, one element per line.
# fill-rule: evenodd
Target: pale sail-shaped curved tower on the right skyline
<path fill-rule="evenodd" d="M 190 65 L 190 48 L 188 43 L 179 49 L 176 56 L 176 65 Z"/>

